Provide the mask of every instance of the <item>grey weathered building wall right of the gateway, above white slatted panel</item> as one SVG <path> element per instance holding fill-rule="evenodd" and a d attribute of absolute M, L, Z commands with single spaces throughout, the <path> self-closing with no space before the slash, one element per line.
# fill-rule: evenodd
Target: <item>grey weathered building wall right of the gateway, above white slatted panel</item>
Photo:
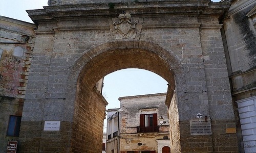
<path fill-rule="evenodd" d="M 235 101 L 255 96 L 255 1 L 229 1 L 231 7 L 222 19 L 222 37 L 228 74 L 230 78 L 233 106 L 236 114 L 239 150 L 243 146 L 243 125 Z M 254 14 L 254 15 L 253 15 Z"/>

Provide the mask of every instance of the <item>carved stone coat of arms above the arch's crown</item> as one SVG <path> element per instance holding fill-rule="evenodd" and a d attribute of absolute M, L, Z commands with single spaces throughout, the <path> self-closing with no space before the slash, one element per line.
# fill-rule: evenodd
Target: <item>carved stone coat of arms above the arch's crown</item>
<path fill-rule="evenodd" d="M 122 13 L 118 16 L 119 22 L 114 22 L 116 39 L 135 38 L 137 21 L 131 22 L 132 16 L 129 13 Z"/>

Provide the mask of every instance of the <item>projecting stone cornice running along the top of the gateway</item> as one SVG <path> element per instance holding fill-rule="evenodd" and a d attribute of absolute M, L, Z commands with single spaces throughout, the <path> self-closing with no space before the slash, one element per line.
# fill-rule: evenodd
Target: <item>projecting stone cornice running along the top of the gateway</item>
<path fill-rule="evenodd" d="M 123 11 L 131 15 L 162 15 L 180 14 L 194 16 L 199 14 L 222 15 L 229 8 L 229 3 L 208 3 L 209 1 L 164 1 L 164 2 L 136 2 L 136 3 L 116 3 L 114 9 L 110 9 L 108 4 L 79 4 L 48 6 L 44 9 L 27 10 L 30 18 L 36 23 L 57 22 L 61 20 L 77 20 L 88 17 L 116 17 Z"/>

